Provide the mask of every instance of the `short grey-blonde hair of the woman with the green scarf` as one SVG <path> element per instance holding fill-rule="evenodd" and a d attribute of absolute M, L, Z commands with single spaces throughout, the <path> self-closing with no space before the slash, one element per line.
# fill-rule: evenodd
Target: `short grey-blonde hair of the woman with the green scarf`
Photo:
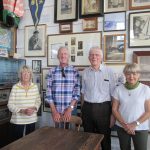
<path fill-rule="evenodd" d="M 136 63 L 128 63 L 126 64 L 126 66 L 123 69 L 123 73 L 131 73 L 131 72 L 137 72 L 140 73 L 141 72 L 141 68 L 138 64 Z"/>

